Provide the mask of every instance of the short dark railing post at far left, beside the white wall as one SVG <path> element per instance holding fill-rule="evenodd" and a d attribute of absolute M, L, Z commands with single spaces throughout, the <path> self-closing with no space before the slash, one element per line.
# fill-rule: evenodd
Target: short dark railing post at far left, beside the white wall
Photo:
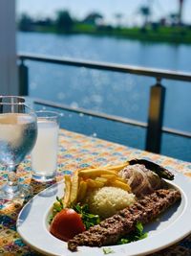
<path fill-rule="evenodd" d="M 19 64 L 19 95 L 29 95 L 29 70 L 23 59 Z"/>

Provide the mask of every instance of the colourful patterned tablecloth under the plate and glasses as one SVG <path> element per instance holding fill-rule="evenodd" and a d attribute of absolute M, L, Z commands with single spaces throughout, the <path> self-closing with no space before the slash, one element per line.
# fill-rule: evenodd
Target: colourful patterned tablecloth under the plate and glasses
<path fill-rule="evenodd" d="M 67 130 L 60 131 L 59 145 L 57 181 L 61 180 L 64 174 L 72 174 L 79 168 L 89 165 L 117 164 L 133 158 L 146 158 L 169 170 L 176 170 L 191 177 L 191 163 L 147 151 L 139 151 Z M 19 166 L 17 174 L 20 182 L 31 183 L 33 194 L 51 185 L 51 183 L 42 184 L 32 180 L 30 157 Z M 6 171 L 0 167 L 0 184 L 6 180 L 6 177 Z M 22 206 L 22 201 L 14 204 L 8 201 L 0 203 L 0 255 L 39 255 L 25 244 L 16 232 L 15 222 Z M 152 255 L 191 255 L 191 235 L 180 241 L 179 244 L 174 244 Z"/>

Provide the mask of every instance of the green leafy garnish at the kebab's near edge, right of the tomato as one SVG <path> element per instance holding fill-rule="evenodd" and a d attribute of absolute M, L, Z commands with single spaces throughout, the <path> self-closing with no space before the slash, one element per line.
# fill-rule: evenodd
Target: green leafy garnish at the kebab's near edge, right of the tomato
<path fill-rule="evenodd" d="M 129 233 L 127 236 L 121 238 L 117 244 L 128 244 L 131 242 L 135 242 L 141 239 L 144 239 L 148 236 L 146 232 L 143 232 L 143 226 L 141 222 L 137 222 L 136 230 Z"/>

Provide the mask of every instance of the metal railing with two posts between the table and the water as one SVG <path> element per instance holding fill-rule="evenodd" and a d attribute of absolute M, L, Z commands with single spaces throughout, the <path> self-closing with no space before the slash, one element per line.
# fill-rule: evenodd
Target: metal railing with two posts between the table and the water
<path fill-rule="evenodd" d="M 147 124 L 130 120 L 127 118 L 111 116 L 103 113 L 96 113 L 91 110 L 74 109 L 67 105 L 58 105 L 58 104 L 50 103 L 43 100 L 38 100 L 37 102 L 38 104 L 57 106 L 59 108 L 63 108 L 71 111 L 79 111 L 79 112 L 83 112 L 83 113 L 97 116 L 100 118 L 110 119 L 117 122 L 133 125 L 133 126 L 147 128 L 146 142 L 145 142 L 145 150 L 147 151 L 153 151 L 153 152 L 160 151 L 162 131 L 191 138 L 191 133 L 189 132 L 183 132 L 176 129 L 162 127 L 166 89 L 163 85 L 161 85 L 161 80 L 166 79 L 166 80 L 174 80 L 174 81 L 191 82 L 191 74 L 189 73 L 174 72 L 169 70 L 160 70 L 160 69 L 152 69 L 152 68 L 143 68 L 138 66 L 123 65 L 123 64 L 76 60 L 71 58 L 56 58 L 56 57 L 48 57 L 48 56 L 40 56 L 40 55 L 30 55 L 30 54 L 19 54 L 18 59 L 20 60 L 20 63 L 19 63 L 20 95 L 28 95 L 28 92 L 29 92 L 29 68 L 25 63 L 25 60 L 40 61 L 40 62 L 46 62 L 46 63 L 59 64 L 59 65 L 75 66 L 75 67 L 85 67 L 85 68 L 96 69 L 96 70 L 120 72 L 120 73 L 156 78 L 156 84 L 151 86 L 151 89 L 150 89 L 150 104 L 149 104 Z"/>

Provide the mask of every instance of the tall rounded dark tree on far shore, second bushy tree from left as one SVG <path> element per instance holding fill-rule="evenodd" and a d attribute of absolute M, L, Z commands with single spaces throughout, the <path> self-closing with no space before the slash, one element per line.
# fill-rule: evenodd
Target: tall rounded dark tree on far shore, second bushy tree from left
<path fill-rule="evenodd" d="M 71 33 L 73 31 L 74 20 L 68 11 L 57 12 L 55 26 L 58 32 Z"/>

